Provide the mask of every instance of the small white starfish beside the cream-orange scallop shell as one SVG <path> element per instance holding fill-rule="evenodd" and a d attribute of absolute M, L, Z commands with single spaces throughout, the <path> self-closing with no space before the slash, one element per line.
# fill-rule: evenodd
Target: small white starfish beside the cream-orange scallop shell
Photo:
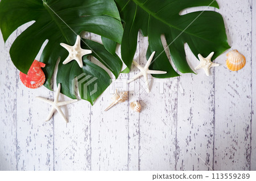
<path fill-rule="evenodd" d="M 200 64 L 195 69 L 196 70 L 204 69 L 205 74 L 207 76 L 209 76 L 210 75 L 210 68 L 212 68 L 214 66 L 220 66 L 220 64 L 216 64 L 216 63 L 213 63 L 212 61 L 210 61 L 212 59 L 213 54 L 214 54 L 214 52 L 210 53 L 207 58 L 204 58 L 203 56 L 201 56 L 201 54 L 198 54 Z"/>

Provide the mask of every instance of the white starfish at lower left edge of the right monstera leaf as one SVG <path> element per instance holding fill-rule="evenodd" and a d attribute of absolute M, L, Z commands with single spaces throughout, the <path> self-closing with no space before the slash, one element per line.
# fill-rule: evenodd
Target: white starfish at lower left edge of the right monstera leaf
<path fill-rule="evenodd" d="M 135 66 L 137 66 L 137 68 L 139 70 L 141 70 L 140 73 L 134 75 L 134 77 L 132 77 L 127 83 L 130 83 L 130 82 L 133 82 L 135 79 L 141 77 L 143 75 L 144 77 L 144 80 L 146 82 L 146 86 L 147 86 L 147 92 L 149 93 L 150 92 L 150 89 L 149 89 L 149 82 L 148 82 L 148 78 L 147 78 L 147 74 L 166 74 L 167 72 L 166 71 L 159 71 L 159 70 L 149 70 L 148 67 L 150 66 L 151 64 L 151 61 L 153 60 L 153 57 L 155 55 L 155 52 L 153 52 L 150 56 L 150 58 L 148 59 L 147 61 L 147 64 L 144 66 L 144 68 L 139 65 L 137 62 L 133 61 L 133 64 Z"/>

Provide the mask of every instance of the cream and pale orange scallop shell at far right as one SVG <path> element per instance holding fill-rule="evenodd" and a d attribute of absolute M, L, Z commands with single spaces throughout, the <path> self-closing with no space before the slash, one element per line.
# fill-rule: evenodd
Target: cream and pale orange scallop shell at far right
<path fill-rule="evenodd" d="M 246 64 L 245 56 L 239 53 L 237 50 L 232 50 L 226 54 L 228 59 L 226 60 L 226 66 L 229 70 L 237 71 L 242 69 Z"/>

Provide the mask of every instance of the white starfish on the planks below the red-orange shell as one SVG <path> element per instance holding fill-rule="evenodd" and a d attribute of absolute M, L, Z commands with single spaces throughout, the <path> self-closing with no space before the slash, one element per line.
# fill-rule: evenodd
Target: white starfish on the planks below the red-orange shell
<path fill-rule="evenodd" d="M 59 83 L 54 102 L 52 102 L 51 100 L 48 100 L 46 98 L 41 98 L 41 97 L 36 97 L 36 98 L 42 100 L 45 103 L 48 103 L 48 104 L 52 105 L 52 110 L 49 112 L 49 115 L 46 118 L 46 121 L 49 121 L 51 119 L 53 113 L 57 110 L 60 113 L 60 115 L 63 117 L 63 119 L 68 123 L 68 120 L 66 119 L 64 113 L 60 109 L 60 106 L 65 106 L 67 104 L 77 102 L 77 99 L 76 100 L 68 100 L 68 101 L 64 101 L 64 102 L 59 102 L 60 87 L 61 86 L 60 86 L 60 83 Z"/>

